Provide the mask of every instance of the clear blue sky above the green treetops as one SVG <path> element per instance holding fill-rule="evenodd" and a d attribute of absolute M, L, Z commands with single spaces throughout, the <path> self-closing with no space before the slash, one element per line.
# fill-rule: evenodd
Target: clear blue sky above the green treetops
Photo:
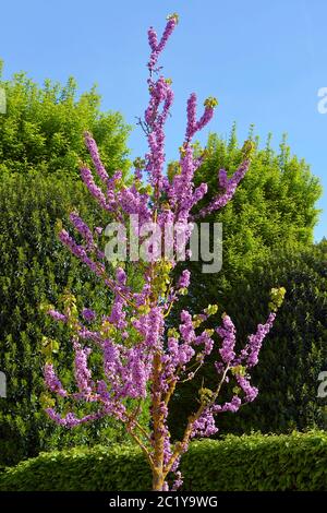
<path fill-rule="evenodd" d="M 316 239 L 327 236 L 327 114 L 317 110 L 317 91 L 327 87 L 326 0 L 1 2 L 4 76 L 25 70 L 38 82 L 64 82 L 73 75 L 81 91 L 97 83 L 104 109 L 134 123 L 147 100 L 146 29 L 161 32 L 171 12 L 180 24 L 162 59 L 175 92 L 168 156 L 180 145 L 187 95 L 217 96 L 210 131 L 227 134 L 235 120 L 244 139 L 255 123 L 263 140 L 274 133 L 276 146 L 288 132 L 292 151 L 322 179 Z M 130 145 L 133 155 L 145 150 L 138 129 Z"/>

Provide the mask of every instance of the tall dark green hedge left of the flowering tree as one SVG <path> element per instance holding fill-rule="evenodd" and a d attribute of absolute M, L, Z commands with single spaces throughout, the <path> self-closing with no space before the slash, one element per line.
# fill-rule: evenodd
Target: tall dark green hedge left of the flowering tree
<path fill-rule="evenodd" d="M 110 305 L 108 290 L 57 239 L 56 220 L 69 227 L 72 207 L 90 227 L 106 219 L 84 186 L 69 177 L 3 176 L 0 205 L 0 369 L 8 379 L 8 397 L 0 398 L 0 463 L 14 464 L 40 449 L 121 440 L 122 428 L 111 419 L 66 431 L 47 419 L 40 404 L 43 335 L 60 342 L 59 371 L 70 368 L 72 347 L 65 330 L 39 306 L 58 305 L 66 287 L 81 306 L 105 313 Z"/>

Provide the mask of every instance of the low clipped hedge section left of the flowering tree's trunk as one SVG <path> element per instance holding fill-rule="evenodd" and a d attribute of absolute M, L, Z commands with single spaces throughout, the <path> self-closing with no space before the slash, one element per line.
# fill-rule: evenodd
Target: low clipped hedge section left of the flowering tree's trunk
<path fill-rule="evenodd" d="M 133 445 L 40 453 L 0 475 L 0 491 L 148 490 L 150 473 Z"/>

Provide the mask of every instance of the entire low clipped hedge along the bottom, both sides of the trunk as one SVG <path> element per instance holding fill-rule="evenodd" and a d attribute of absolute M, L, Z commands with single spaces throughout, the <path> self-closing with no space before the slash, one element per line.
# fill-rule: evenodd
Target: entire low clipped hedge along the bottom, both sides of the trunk
<path fill-rule="evenodd" d="M 181 466 L 187 491 L 327 490 L 327 433 L 193 442 Z M 145 458 L 128 445 L 41 453 L 0 475 L 1 491 L 149 489 Z"/>

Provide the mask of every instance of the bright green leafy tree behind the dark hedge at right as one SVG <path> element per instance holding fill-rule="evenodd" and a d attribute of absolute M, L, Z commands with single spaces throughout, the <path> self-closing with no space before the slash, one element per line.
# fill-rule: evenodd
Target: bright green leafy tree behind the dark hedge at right
<path fill-rule="evenodd" d="M 253 127 L 249 139 L 253 139 Z M 233 200 L 221 211 L 208 215 L 203 222 L 222 223 L 223 262 L 217 274 L 203 274 L 202 263 L 191 263 L 192 283 L 185 301 L 206 308 L 207 302 L 219 300 L 225 305 L 231 290 L 243 279 L 244 273 L 262 263 L 275 250 L 284 251 L 311 246 L 319 211 L 316 202 L 322 186 L 304 159 L 291 154 L 283 136 L 279 151 L 271 147 L 270 134 L 264 148 L 254 139 L 250 169 L 240 183 Z M 235 126 L 229 140 L 211 134 L 206 157 L 196 174 L 197 183 L 208 183 L 208 195 L 218 192 L 218 170 L 225 168 L 229 176 L 243 160 L 243 146 L 238 143 Z M 189 263 L 187 263 L 189 265 Z M 201 293 L 201 294 L 199 294 Z M 217 299 L 218 298 L 218 299 Z"/>

